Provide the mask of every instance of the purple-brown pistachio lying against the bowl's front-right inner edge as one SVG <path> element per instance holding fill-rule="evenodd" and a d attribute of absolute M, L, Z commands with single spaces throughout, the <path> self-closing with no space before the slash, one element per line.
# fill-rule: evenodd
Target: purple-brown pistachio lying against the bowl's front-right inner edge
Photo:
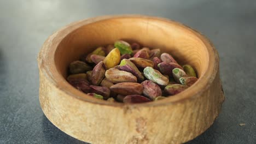
<path fill-rule="evenodd" d="M 184 91 L 187 88 L 188 86 L 181 85 L 181 84 L 170 84 L 165 87 L 165 92 L 170 95 L 175 95 Z"/>

